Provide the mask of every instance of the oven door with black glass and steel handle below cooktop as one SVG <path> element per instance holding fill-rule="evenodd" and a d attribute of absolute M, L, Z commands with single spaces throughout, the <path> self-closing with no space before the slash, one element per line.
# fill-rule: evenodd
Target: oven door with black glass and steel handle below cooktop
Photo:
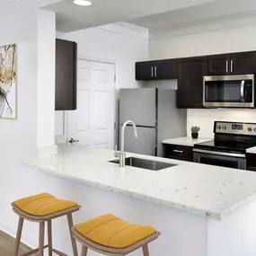
<path fill-rule="evenodd" d="M 193 151 L 193 160 L 195 163 L 205 163 L 246 170 L 245 154 L 223 153 L 196 148 L 194 148 Z"/>

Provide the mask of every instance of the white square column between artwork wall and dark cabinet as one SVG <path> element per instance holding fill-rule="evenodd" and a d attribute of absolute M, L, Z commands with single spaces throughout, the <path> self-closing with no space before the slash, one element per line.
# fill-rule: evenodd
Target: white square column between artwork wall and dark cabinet
<path fill-rule="evenodd" d="M 38 147 L 54 148 L 56 16 L 38 12 Z"/>

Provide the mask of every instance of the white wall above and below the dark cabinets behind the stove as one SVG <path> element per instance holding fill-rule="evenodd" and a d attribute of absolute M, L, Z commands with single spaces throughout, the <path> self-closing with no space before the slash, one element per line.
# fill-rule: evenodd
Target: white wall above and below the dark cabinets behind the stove
<path fill-rule="evenodd" d="M 172 37 L 172 32 L 169 31 L 167 38 L 163 36 L 150 40 L 149 57 L 152 59 L 190 57 L 256 50 L 255 31 L 256 25 L 204 31 L 178 37 Z M 188 136 L 191 125 L 201 126 L 200 137 L 213 137 L 214 120 L 256 122 L 255 118 L 256 110 L 188 110 Z"/>

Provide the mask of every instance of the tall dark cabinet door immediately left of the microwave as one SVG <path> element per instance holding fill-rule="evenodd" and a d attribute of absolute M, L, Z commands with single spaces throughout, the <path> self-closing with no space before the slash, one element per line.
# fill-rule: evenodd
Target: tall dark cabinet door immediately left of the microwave
<path fill-rule="evenodd" d="M 178 60 L 178 108 L 203 108 L 203 77 L 205 75 L 206 57 L 188 57 Z"/>

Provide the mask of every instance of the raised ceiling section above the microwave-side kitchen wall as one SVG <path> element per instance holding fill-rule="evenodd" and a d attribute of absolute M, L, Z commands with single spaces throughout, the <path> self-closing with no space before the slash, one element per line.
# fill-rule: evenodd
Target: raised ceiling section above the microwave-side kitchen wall
<path fill-rule="evenodd" d="M 137 26 L 145 27 L 150 31 L 163 28 L 180 27 L 183 24 L 207 20 L 223 20 L 232 17 L 241 17 L 256 14 L 255 0 L 222 0 L 198 4 L 190 7 L 172 10 L 165 13 L 156 13 L 128 21 Z"/>

